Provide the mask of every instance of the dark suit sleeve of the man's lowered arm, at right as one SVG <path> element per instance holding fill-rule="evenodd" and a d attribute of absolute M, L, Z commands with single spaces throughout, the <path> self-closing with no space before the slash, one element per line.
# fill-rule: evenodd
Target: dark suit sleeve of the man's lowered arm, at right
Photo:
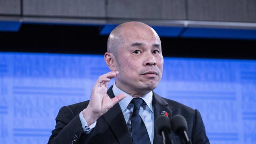
<path fill-rule="evenodd" d="M 191 141 L 193 144 L 210 144 L 205 132 L 204 123 L 201 114 L 196 109 L 194 117 L 194 126 Z"/>

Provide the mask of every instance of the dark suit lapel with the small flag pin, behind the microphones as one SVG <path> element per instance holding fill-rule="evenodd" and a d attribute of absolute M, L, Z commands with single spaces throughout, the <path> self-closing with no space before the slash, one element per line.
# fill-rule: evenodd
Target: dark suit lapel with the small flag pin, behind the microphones
<path fill-rule="evenodd" d="M 153 92 L 152 105 L 154 107 L 154 118 L 155 118 L 154 122 L 156 122 L 156 118 L 158 118 L 158 116 L 161 115 L 162 111 L 166 111 L 169 114 L 168 117 L 170 119 L 172 118 L 173 111 L 170 109 L 168 103 L 163 98 L 158 96 L 158 94 L 156 94 L 155 92 Z M 153 144 L 162 144 L 162 143 L 163 143 L 163 137 L 157 133 L 156 129 L 154 129 Z"/>

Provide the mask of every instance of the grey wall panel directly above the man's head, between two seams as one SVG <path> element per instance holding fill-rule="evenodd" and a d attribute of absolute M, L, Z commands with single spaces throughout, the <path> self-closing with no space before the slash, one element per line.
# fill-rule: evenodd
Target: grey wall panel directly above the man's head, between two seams
<path fill-rule="evenodd" d="M 108 0 L 108 17 L 185 19 L 185 0 Z"/>

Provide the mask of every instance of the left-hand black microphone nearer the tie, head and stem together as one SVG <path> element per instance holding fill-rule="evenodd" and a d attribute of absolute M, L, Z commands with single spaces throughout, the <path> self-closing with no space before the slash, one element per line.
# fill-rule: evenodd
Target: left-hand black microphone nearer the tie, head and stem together
<path fill-rule="evenodd" d="M 158 116 L 155 121 L 155 127 L 159 135 L 163 136 L 163 144 L 173 144 L 173 140 L 170 138 L 171 125 L 170 118 L 167 116 Z"/>

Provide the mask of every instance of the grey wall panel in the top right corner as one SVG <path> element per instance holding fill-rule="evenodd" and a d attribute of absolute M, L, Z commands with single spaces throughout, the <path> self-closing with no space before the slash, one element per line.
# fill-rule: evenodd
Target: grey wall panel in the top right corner
<path fill-rule="evenodd" d="M 256 22 L 256 0 L 188 0 L 189 20 Z"/>

